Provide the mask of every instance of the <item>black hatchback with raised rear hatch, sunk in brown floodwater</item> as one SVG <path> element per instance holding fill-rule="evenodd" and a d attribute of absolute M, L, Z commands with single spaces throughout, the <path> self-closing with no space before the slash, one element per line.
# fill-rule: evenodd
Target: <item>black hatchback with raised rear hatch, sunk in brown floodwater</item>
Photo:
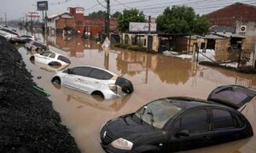
<path fill-rule="evenodd" d="M 255 95 L 253 88 L 228 85 L 213 90 L 207 100 L 156 99 L 104 124 L 102 147 L 119 153 L 170 152 L 253 136 L 251 124 L 237 109 Z"/>

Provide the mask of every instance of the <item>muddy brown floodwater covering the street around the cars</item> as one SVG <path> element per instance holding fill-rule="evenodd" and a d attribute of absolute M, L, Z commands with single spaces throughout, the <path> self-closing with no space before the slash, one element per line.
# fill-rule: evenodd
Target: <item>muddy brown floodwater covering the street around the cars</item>
<path fill-rule="evenodd" d="M 102 50 L 100 45 L 83 40 L 58 42 L 50 39 L 49 50 L 66 55 L 73 67 L 94 65 L 113 71 L 131 80 L 134 93 L 125 98 L 98 100 L 69 88 L 55 88 L 50 82 L 55 74 L 48 65 L 32 64 L 31 55 L 19 48 L 33 80 L 51 96 L 54 108 L 60 112 L 62 123 L 70 129 L 82 152 L 102 153 L 100 129 L 108 120 L 137 111 L 149 101 L 168 96 L 189 96 L 207 99 L 214 88 L 238 84 L 256 88 L 256 76 L 197 65 L 190 59 L 177 59 L 162 54 L 144 54 L 118 49 Z M 56 45 L 56 43 L 58 43 Z M 41 77 L 41 78 L 40 78 Z M 38 79 L 40 78 L 40 79 Z M 243 111 L 256 133 L 256 100 Z M 185 152 L 256 152 L 256 135 L 226 144 L 218 144 Z"/>

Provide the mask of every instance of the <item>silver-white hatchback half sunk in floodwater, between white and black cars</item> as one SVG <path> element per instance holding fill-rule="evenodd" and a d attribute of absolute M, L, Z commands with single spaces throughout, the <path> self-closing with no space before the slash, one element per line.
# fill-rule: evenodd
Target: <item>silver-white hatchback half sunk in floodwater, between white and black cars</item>
<path fill-rule="evenodd" d="M 59 71 L 52 77 L 52 82 L 86 94 L 99 94 L 104 99 L 113 99 L 133 92 L 131 81 L 90 65 Z"/>

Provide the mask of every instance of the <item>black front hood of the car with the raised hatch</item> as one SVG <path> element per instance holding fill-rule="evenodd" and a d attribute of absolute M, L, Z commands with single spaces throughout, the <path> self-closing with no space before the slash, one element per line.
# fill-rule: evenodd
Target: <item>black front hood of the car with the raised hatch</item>
<path fill-rule="evenodd" d="M 113 134 L 113 140 L 123 138 L 137 144 L 148 144 L 148 141 L 150 144 L 166 141 L 166 132 L 148 123 L 141 123 L 139 118 L 134 119 L 131 116 L 135 116 L 135 114 L 119 116 L 107 122 L 102 128 L 102 133 L 106 130 L 107 133 Z"/>

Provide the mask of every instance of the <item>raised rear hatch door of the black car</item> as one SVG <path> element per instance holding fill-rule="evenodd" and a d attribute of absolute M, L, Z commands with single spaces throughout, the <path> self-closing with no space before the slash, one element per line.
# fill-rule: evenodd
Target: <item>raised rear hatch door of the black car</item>
<path fill-rule="evenodd" d="M 239 109 L 248 103 L 256 95 L 254 88 L 246 88 L 238 85 L 225 85 L 215 88 L 209 94 L 207 100 L 228 105 L 234 109 Z"/>

